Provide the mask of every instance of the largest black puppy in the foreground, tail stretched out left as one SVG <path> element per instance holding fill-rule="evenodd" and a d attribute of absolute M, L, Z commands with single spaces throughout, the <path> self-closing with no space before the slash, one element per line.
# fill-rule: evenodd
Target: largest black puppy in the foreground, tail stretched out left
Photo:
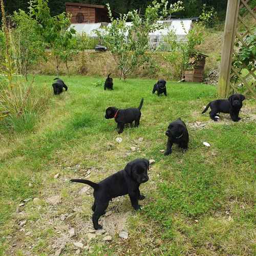
<path fill-rule="evenodd" d="M 141 183 L 148 181 L 147 170 L 150 162 L 146 159 L 135 159 L 125 166 L 123 170 L 111 175 L 110 177 L 94 183 L 90 180 L 72 179 L 73 182 L 88 184 L 94 188 L 94 204 L 92 206 L 93 227 L 102 229 L 98 224 L 100 216 L 105 214 L 105 210 L 110 200 L 115 197 L 129 195 L 132 206 L 135 210 L 140 209 L 138 200 L 145 197 L 140 194 L 139 186 Z"/>

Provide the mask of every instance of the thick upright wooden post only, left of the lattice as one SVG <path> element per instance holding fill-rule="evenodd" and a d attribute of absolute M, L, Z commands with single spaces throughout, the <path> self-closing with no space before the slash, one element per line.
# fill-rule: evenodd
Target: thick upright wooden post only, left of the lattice
<path fill-rule="evenodd" d="M 218 95 L 226 97 L 230 91 L 230 70 L 234 47 L 234 36 L 237 30 L 240 0 L 228 0 L 224 29 L 224 41 L 221 51 L 221 67 L 218 82 Z"/>

